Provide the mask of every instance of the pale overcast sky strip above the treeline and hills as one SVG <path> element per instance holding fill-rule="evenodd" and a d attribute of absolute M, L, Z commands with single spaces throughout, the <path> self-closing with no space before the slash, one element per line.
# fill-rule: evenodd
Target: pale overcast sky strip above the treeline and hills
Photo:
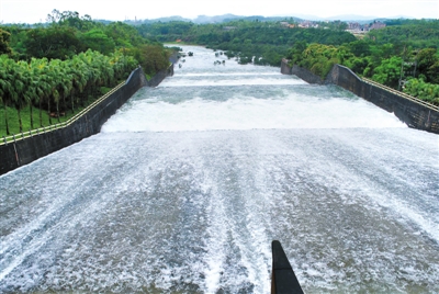
<path fill-rule="evenodd" d="M 45 22 L 52 10 L 111 21 L 181 15 L 289 15 L 439 19 L 439 0 L 0 0 L 0 23 Z"/>

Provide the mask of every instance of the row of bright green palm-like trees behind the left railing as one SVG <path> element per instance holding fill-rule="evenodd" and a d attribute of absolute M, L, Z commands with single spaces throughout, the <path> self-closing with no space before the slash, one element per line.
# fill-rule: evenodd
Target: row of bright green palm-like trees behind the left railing
<path fill-rule="evenodd" d="M 99 98 L 102 87 L 114 87 L 125 79 L 136 65 L 137 60 L 120 52 L 105 56 L 91 49 L 66 60 L 32 58 L 26 63 L 0 56 L 2 135 L 59 123 L 67 112 L 75 114 Z M 11 109 L 16 111 L 15 127 L 10 125 L 14 117 Z M 29 110 L 27 124 L 23 124 L 24 109 Z"/>

